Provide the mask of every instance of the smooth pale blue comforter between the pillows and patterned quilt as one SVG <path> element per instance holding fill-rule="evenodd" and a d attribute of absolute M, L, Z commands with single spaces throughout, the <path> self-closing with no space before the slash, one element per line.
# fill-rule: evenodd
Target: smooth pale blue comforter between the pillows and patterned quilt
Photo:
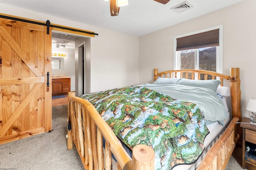
<path fill-rule="evenodd" d="M 156 92 L 166 94 L 173 99 L 197 104 L 205 120 L 222 121 L 228 118 L 228 113 L 220 96 L 208 88 L 178 84 L 141 84 L 138 86 L 144 86 Z"/>

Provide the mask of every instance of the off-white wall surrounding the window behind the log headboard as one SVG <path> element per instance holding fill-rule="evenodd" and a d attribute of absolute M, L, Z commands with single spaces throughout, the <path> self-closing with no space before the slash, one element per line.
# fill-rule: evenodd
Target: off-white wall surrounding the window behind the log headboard
<path fill-rule="evenodd" d="M 242 116 L 256 98 L 256 1 L 246 0 L 216 12 L 140 37 L 139 83 L 153 81 L 153 69 L 173 69 L 173 37 L 217 25 L 224 26 L 223 73 L 240 68 Z M 148 74 L 150 73 L 150 74 Z"/>

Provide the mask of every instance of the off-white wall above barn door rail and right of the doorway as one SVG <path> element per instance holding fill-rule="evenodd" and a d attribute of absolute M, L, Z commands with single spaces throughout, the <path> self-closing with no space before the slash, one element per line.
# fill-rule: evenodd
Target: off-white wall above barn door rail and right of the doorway
<path fill-rule="evenodd" d="M 138 84 L 139 38 L 55 16 L 0 4 L 1 13 L 94 31 L 91 38 L 91 92 Z M 98 62 L 98 66 L 95 66 Z"/>

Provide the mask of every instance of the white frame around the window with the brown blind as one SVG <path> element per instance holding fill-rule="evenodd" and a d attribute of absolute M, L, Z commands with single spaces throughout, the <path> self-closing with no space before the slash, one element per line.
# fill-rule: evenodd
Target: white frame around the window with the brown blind
<path fill-rule="evenodd" d="M 218 73 L 223 73 L 223 25 L 218 25 L 218 26 L 215 26 L 215 27 L 210 27 L 210 28 L 207 28 L 207 29 L 202 29 L 202 30 L 199 30 L 199 31 L 194 31 L 194 32 L 191 32 L 191 33 L 186 33 L 186 34 L 183 34 L 183 35 L 178 35 L 178 36 L 175 36 L 173 41 L 174 41 L 174 57 L 173 57 L 173 68 L 174 70 L 180 70 L 180 51 L 176 51 L 176 46 L 177 46 L 177 41 L 176 39 L 177 38 L 180 38 L 180 37 L 185 37 L 185 36 L 188 36 L 188 35 L 193 35 L 193 34 L 197 34 L 197 33 L 202 33 L 202 32 L 205 32 L 205 31 L 210 31 L 210 30 L 213 30 L 213 29 L 219 29 L 219 46 L 216 47 L 216 72 Z M 198 53 L 198 50 L 196 50 L 197 53 Z M 195 52 L 196 52 L 195 51 Z M 199 62 L 199 61 L 195 61 L 195 62 Z"/>

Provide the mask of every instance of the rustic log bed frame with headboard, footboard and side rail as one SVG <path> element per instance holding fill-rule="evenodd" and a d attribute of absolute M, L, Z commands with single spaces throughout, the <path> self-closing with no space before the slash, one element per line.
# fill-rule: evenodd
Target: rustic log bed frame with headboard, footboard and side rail
<path fill-rule="evenodd" d="M 204 75 L 204 79 L 209 77 L 207 75 L 211 75 L 212 79 L 218 77 L 222 82 L 220 86 L 223 86 L 224 80 L 230 82 L 232 121 L 216 143 L 208 150 L 197 168 L 197 170 L 224 170 L 241 135 L 237 133 L 236 124 L 242 119 L 239 68 L 230 68 L 230 75 L 191 69 L 158 73 L 158 69 L 154 69 L 154 80 L 158 77 L 174 78 L 182 72 L 183 74 L 180 75 L 185 75 L 184 78 L 188 78 L 190 75 L 194 79 L 195 74 L 198 75 L 199 79 L 200 75 Z M 112 154 L 117 159 L 118 170 L 154 170 L 154 150 L 152 148 L 146 145 L 137 145 L 132 151 L 133 157 L 130 158 L 116 135 L 90 102 L 75 97 L 75 92 L 69 92 L 68 98 L 67 121 L 68 127 L 70 126 L 72 130 L 68 130 L 67 147 L 73 149 L 74 145 L 76 146 L 86 170 L 110 170 Z M 103 147 L 102 136 L 106 140 L 105 147 Z"/>

